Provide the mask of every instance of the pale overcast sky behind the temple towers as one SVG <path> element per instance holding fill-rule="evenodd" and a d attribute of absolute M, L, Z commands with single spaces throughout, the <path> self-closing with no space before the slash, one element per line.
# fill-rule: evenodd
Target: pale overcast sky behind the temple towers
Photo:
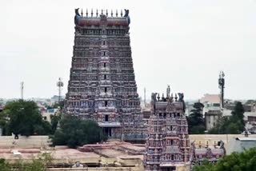
<path fill-rule="evenodd" d="M 130 10 L 130 40 L 138 93 L 219 93 L 256 98 L 256 1 L 1 0 L 0 97 L 52 97 L 67 91 L 74 45 L 74 8 Z"/>

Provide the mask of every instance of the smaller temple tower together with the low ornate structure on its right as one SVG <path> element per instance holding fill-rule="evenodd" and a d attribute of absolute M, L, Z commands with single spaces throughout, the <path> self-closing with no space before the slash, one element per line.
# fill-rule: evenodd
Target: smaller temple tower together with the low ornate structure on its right
<path fill-rule="evenodd" d="M 213 147 L 208 144 L 196 147 L 194 142 L 190 144 L 183 98 L 183 93 L 170 95 L 170 86 L 166 97 L 152 93 L 145 170 L 192 170 L 194 165 L 201 165 L 204 160 L 216 163 L 226 154 L 223 141 L 218 141 L 218 145 Z"/>

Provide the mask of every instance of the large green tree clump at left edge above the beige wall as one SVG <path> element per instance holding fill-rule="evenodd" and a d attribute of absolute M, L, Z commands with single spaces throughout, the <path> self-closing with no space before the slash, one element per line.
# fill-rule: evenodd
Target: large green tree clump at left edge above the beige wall
<path fill-rule="evenodd" d="M 50 123 L 42 120 L 38 105 L 34 101 L 8 102 L 0 113 L 0 126 L 3 135 L 14 133 L 30 136 L 46 135 L 51 132 Z"/>

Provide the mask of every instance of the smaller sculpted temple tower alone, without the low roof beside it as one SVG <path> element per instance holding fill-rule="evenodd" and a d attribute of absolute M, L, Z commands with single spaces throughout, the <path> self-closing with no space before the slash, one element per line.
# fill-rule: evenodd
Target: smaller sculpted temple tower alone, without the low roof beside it
<path fill-rule="evenodd" d="M 190 141 L 183 93 L 179 98 L 167 88 L 166 97 L 152 93 L 151 116 L 146 139 L 146 170 L 186 169 L 190 158 Z"/>

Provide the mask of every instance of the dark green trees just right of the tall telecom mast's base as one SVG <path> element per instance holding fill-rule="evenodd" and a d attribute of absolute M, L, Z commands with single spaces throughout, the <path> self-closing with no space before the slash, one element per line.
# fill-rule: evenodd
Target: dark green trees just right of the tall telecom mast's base
<path fill-rule="evenodd" d="M 243 121 L 244 112 L 245 110 L 242 106 L 242 103 L 238 101 L 234 106 L 234 111 L 232 111 L 232 115 L 230 117 L 220 117 L 218 119 L 217 125 L 213 129 L 210 129 L 209 133 L 242 133 L 245 127 L 245 123 Z"/>

